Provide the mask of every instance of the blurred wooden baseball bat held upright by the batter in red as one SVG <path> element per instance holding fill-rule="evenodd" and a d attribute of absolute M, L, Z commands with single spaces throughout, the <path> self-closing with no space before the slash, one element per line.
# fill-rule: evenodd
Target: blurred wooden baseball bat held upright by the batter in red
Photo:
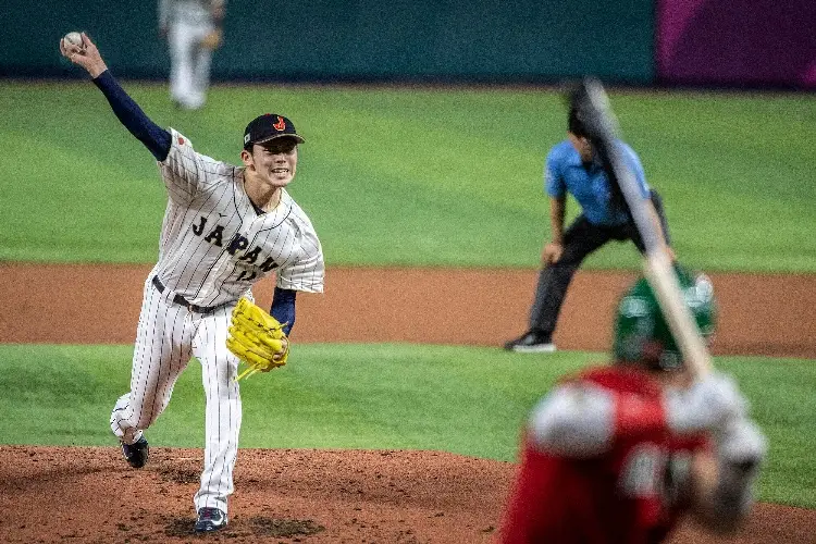
<path fill-rule="evenodd" d="M 572 106 L 579 108 L 584 116 L 583 121 L 588 132 L 591 133 L 593 145 L 599 148 L 602 158 L 608 161 L 608 166 L 616 178 L 610 182 L 617 182 L 629 206 L 629 211 L 646 248 L 643 260 L 646 281 L 655 292 L 657 302 L 660 305 L 683 360 L 694 375 L 703 376 L 712 370 L 712 357 L 683 300 L 683 293 L 675 269 L 655 224 L 657 214 L 651 200 L 643 199 L 638 181 L 623 161 L 617 144 L 620 129 L 609 104 L 609 98 L 601 82 L 586 77 L 581 82 L 571 100 Z"/>

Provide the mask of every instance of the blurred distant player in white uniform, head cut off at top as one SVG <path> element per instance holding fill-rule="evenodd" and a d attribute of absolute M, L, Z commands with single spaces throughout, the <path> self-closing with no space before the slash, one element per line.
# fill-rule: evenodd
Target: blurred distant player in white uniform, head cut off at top
<path fill-rule="evenodd" d="M 223 39 L 226 0 L 159 0 L 159 34 L 170 50 L 170 98 L 198 110 L 207 101 L 212 52 Z"/>

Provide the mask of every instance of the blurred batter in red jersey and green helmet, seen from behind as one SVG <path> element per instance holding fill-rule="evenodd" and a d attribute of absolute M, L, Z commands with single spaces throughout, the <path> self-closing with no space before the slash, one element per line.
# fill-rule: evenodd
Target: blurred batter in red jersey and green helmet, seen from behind
<path fill-rule="evenodd" d="M 707 338 L 712 284 L 676 268 Z M 692 379 L 643 279 L 618 306 L 613 356 L 562 380 L 533 409 L 502 544 L 647 544 L 687 512 L 724 533 L 749 514 L 765 438 L 731 379 Z"/>

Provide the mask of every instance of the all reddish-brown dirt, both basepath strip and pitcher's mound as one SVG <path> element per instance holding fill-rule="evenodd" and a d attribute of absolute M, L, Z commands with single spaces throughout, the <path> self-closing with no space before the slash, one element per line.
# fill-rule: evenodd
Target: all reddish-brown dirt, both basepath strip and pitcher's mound
<path fill-rule="evenodd" d="M 132 343 L 149 270 L 0 264 L 0 299 L 14 301 L 0 309 L 0 342 Z M 615 300 L 632 277 L 579 272 L 559 347 L 607 349 Z M 715 354 L 816 358 L 816 276 L 712 279 L 721 314 Z M 534 286 L 534 271 L 331 269 L 325 295 L 298 298 L 293 342 L 497 347 L 524 329 Z M 268 305 L 272 284 L 255 290 Z M 42 326 L 44 316 L 59 326 Z M 135 471 L 115 447 L 0 446 L 0 542 L 491 542 L 516 467 L 436 452 L 242 449 L 231 524 L 199 537 L 189 530 L 201 462 L 198 449 L 154 447 L 148 467 Z M 735 537 L 684 526 L 672 542 L 809 542 L 814 534 L 816 510 L 759 504 Z"/>

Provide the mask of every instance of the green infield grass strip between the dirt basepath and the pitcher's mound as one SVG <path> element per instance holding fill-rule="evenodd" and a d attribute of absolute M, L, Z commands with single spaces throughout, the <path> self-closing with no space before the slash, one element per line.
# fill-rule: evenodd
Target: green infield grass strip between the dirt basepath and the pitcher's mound
<path fill-rule="evenodd" d="M 108 418 L 127 391 L 129 346 L 0 346 L 0 444 L 110 445 Z M 435 449 L 511 461 L 520 425 L 565 372 L 604 356 L 519 356 L 497 348 L 300 345 L 293 362 L 242 385 L 243 447 Z M 770 442 L 766 502 L 816 508 L 816 366 L 717 358 L 735 375 Z M 148 432 L 158 446 L 201 447 L 194 360 Z"/>

